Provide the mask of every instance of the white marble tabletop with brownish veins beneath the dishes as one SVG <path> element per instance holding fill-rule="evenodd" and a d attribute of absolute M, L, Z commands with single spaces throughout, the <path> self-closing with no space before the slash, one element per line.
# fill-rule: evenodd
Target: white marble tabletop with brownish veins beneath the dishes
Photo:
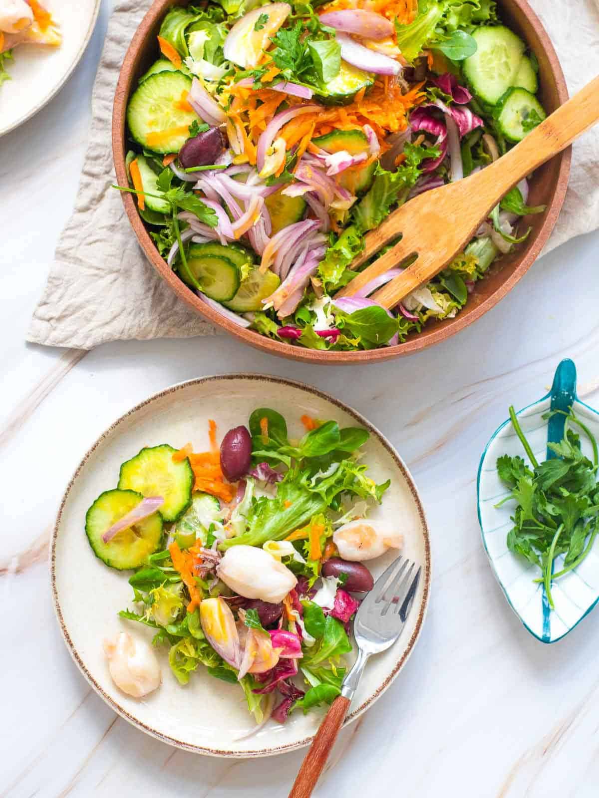
<path fill-rule="evenodd" d="M 599 612 L 554 646 L 530 637 L 486 563 L 475 477 L 507 406 L 540 397 L 561 358 L 576 361 L 581 396 L 599 405 L 599 234 L 539 261 L 458 337 L 369 368 L 298 365 L 223 337 L 111 344 L 84 357 L 26 346 L 77 189 L 108 13 L 105 0 L 58 97 L 0 139 L 0 795 L 287 795 L 301 752 L 197 757 L 117 718 L 67 654 L 46 565 L 61 492 L 115 417 L 173 382 L 256 371 L 317 385 L 383 429 L 414 473 L 432 536 L 433 589 L 419 645 L 383 700 L 343 732 L 315 796 L 596 798 Z"/>

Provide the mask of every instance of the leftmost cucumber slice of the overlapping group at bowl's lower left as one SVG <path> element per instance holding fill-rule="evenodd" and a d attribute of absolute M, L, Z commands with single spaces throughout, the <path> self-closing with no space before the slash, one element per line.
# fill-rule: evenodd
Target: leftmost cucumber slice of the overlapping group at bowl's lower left
<path fill-rule="evenodd" d="M 240 269 L 232 259 L 224 257 L 228 247 L 220 246 L 224 254 L 215 254 L 218 244 L 192 244 L 187 255 L 188 273 L 180 271 L 180 278 L 188 285 L 200 288 L 216 302 L 232 299 L 241 282 Z"/>

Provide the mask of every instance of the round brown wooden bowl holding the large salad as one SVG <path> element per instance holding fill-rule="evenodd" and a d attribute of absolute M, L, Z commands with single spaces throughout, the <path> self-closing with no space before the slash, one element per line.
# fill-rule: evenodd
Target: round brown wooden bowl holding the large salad
<path fill-rule="evenodd" d="M 113 158 L 118 184 L 121 186 L 128 184 L 125 170 L 125 155 L 128 150 L 125 129 L 127 101 L 133 87 L 137 84 L 137 79 L 145 73 L 145 70 L 157 57 L 156 36 L 162 18 L 173 5 L 186 6 L 188 2 L 187 0 L 174 0 L 174 2 L 173 0 L 155 0 L 137 28 L 121 67 L 113 107 Z M 498 5 L 506 24 L 527 42 L 538 58 L 541 102 L 547 113 L 553 112 L 568 99 L 568 89 L 557 53 L 553 49 L 553 44 L 545 28 L 526 0 L 500 0 Z M 553 231 L 553 226 L 564 202 L 571 156 L 571 148 L 568 148 L 534 172 L 534 176 L 530 180 L 528 204 L 545 204 L 547 206 L 545 213 L 524 219 L 523 225 L 532 228 L 529 238 L 525 243 L 516 247 L 514 252 L 503 255 L 490 267 L 486 276 L 476 282 L 466 306 L 456 318 L 446 319 L 442 322 L 429 322 L 421 333 L 411 334 L 406 342 L 398 346 L 384 346 L 381 349 L 355 352 L 331 352 L 291 346 L 283 341 L 275 341 L 253 330 L 237 326 L 216 310 L 212 310 L 177 277 L 165 259 L 158 254 L 153 240 L 137 213 L 133 195 L 121 192 L 121 196 L 133 231 L 150 263 L 177 296 L 205 318 L 250 346 L 284 358 L 327 364 L 365 363 L 415 354 L 415 352 L 450 338 L 451 335 L 463 330 L 485 314 L 487 310 L 490 310 L 516 285 L 518 280 L 530 269 Z"/>

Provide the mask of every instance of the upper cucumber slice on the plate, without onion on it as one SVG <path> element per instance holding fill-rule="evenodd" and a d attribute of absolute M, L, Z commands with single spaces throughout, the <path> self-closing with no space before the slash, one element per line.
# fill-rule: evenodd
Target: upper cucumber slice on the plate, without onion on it
<path fill-rule="evenodd" d="M 177 451 L 169 444 L 142 448 L 121 465 L 118 487 L 142 496 L 162 496 L 160 514 L 165 521 L 176 521 L 192 503 L 195 482 L 189 460 L 173 460 Z"/>

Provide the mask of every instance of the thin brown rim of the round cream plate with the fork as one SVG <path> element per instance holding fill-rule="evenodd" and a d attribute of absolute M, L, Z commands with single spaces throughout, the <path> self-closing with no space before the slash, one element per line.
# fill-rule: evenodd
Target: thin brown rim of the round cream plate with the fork
<path fill-rule="evenodd" d="M 293 743 L 291 745 L 279 745 L 271 749 L 261 749 L 255 751 L 222 751 L 219 749 L 204 749 L 201 748 L 199 745 L 189 745 L 183 741 L 177 740 L 174 737 L 169 737 L 168 735 L 162 734 L 161 732 L 157 731 L 157 729 L 153 729 L 151 726 L 146 725 L 139 721 L 136 717 L 133 717 L 130 713 L 127 712 L 121 705 L 117 704 L 116 701 L 113 701 L 108 693 L 105 693 L 101 686 L 97 684 L 89 671 L 85 667 L 85 663 L 79 656 L 75 646 L 73 645 L 73 641 L 69 636 L 69 632 L 66 629 L 64 619 L 62 618 L 62 612 L 60 603 L 58 601 L 58 591 L 56 587 L 56 543 L 58 539 L 58 528 L 61 524 L 62 512 L 65 508 L 66 501 L 69 498 L 69 493 L 71 488 L 73 488 L 73 484 L 77 477 L 81 472 L 81 468 L 84 467 L 85 463 L 89 459 L 89 456 L 93 454 L 96 448 L 107 438 L 111 435 L 119 425 L 121 425 L 124 421 L 126 421 L 129 417 L 133 416 L 142 408 L 147 407 L 148 405 L 152 404 L 152 402 L 161 399 L 162 397 L 168 396 L 169 393 L 176 393 L 180 389 L 186 388 L 188 385 L 202 385 L 206 382 L 212 381 L 224 381 L 224 380 L 262 380 L 268 382 L 275 382 L 279 385 L 291 385 L 292 388 L 299 389 L 305 393 L 312 393 L 315 394 L 317 397 L 320 397 L 326 401 L 331 402 L 332 405 L 335 405 L 339 409 L 343 410 L 343 412 L 348 413 L 351 417 L 358 421 L 359 424 L 363 425 L 368 432 L 372 433 L 375 437 L 377 437 L 383 447 L 387 449 L 387 452 L 393 458 L 395 464 L 402 472 L 405 480 L 407 481 L 408 487 L 410 488 L 410 492 L 412 498 L 415 501 L 416 507 L 418 508 L 420 523 L 422 525 L 422 532 L 424 535 L 424 543 L 425 543 L 425 551 L 426 551 L 426 562 L 424 563 L 424 592 L 422 594 L 422 602 L 419 607 L 419 615 L 416 621 L 415 630 L 412 633 L 410 641 L 407 644 L 406 650 L 403 652 L 403 655 L 399 658 L 398 662 L 395 664 L 395 667 L 391 674 L 383 681 L 383 684 L 379 686 L 376 690 L 374 695 L 371 696 L 367 701 L 364 701 L 362 705 L 354 709 L 351 713 L 349 713 L 343 722 L 343 726 L 348 725 L 352 721 L 355 721 L 359 715 L 361 715 L 369 706 L 374 704 L 374 702 L 379 698 L 379 696 L 387 689 L 391 682 L 395 680 L 397 674 L 399 674 L 399 670 L 402 669 L 403 665 L 407 662 L 407 658 L 410 656 L 415 642 L 419 637 L 420 631 L 422 629 L 422 622 L 424 621 L 424 616 L 426 614 L 426 606 L 428 604 L 428 598 L 430 593 L 430 539 L 429 539 L 429 532 L 428 526 L 426 524 L 426 516 L 424 514 L 424 509 L 422 508 L 422 502 L 420 500 L 419 492 L 415 486 L 414 480 L 412 479 L 411 473 L 409 472 L 406 464 L 403 462 L 402 458 L 399 456 L 399 453 L 395 451 L 395 448 L 391 445 L 391 443 L 387 440 L 387 438 L 377 429 L 374 425 L 367 421 L 360 413 L 358 413 L 353 408 L 346 405 L 344 402 L 339 401 L 339 399 L 335 399 L 335 397 L 331 397 L 328 393 L 324 391 L 320 391 L 319 389 L 312 388 L 311 385 L 305 385 L 302 382 L 298 382 L 295 380 L 288 380 L 284 379 L 283 377 L 273 377 L 269 374 L 244 374 L 244 373 L 233 373 L 233 374 L 222 374 L 222 375 L 214 375 L 210 377 L 198 377 L 195 380 L 188 380 L 184 382 L 179 382 L 176 385 L 171 385 L 169 388 L 165 388 L 158 393 L 154 393 L 145 401 L 139 403 L 132 409 L 130 409 L 127 413 L 124 413 L 117 421 L 114 421 L 112 425 L 109 426 L 108 429 L 101 434 L 100 437 L 97 438 L 96 442 L 89 448 L 89 450 L 85 453 L 85 456 L 81 460 L 81 463 L 77 466 L 73 476 L 69 480 L 69 484 L 65 490 L 64 495 L 61 499 L 60 507 L 58 508 L 58 515 L 56 517 L 56 523 L 54 524 L 54 530 L 52 531 L 52 541 L 50 544 L 50 554 L 49 554 L 49 561 L 50 561 L 50 584 L 52 588 L 52 599 L 54 603 L 54 612 L 56 613 L 56 617 L 58 618 L 58 624 L 61 627 L 62 636 L 65 639 L 65 644 L 67 649 L 69 650 L 69 654 L 73 658 L 74 662 L 77 664 L 81 673 L 85 676 L 89 684 L 93 687 L 93 689 L 104 699 L 104 701 L 114 709 L 114 711 L 119 714 L 121 717 L 125 718 L 125 721 L 129 721 L 134 726 L 137 726 L 138 729 L 141 731 L 150 734 L 152 737 L 156 737 L 157 740 L 160 740 L 165 743 L 169 743 L 169 745 L 175 745 L 177 748 L 184 749 L 184 751 L 192 751 L 193 753 L 202 753 L 208 754 L 212 757 L 230 757 L 230 758 L 248 758 L 248 757 L 270 757 L 275 754 L 279 753 L 288 753 L 289 751 L 295 751 L 296 749 L 303 748 L 304 745 L 309 745 L 313 740 L 313 735 L 310 737 L 305 737 L 303 740 L 299 742 Z"/>

